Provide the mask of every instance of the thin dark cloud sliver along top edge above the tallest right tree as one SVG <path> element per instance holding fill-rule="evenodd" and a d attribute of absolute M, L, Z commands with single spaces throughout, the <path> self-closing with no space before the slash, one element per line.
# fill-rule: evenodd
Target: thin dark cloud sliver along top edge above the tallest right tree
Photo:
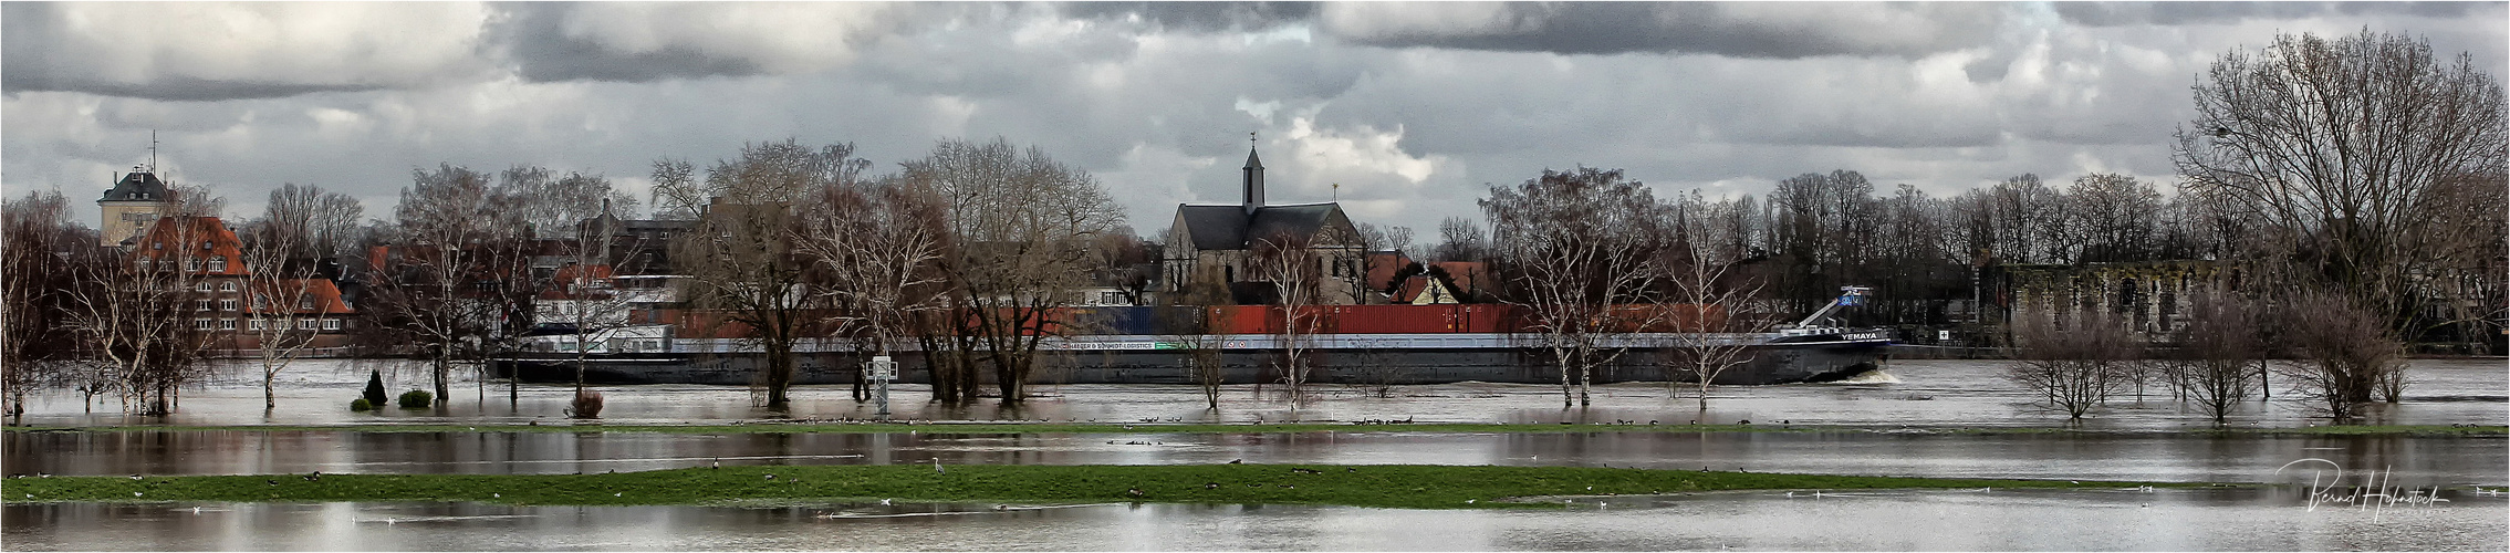
<path fill-rule="evenodd" d="M 2467 18 L 2477 8 L 2502 3 L 2053 3 L 2066 23 L 2113 25 L 2199 25 L 2239 20 L 2299 20 L 2322 15 L 2420 15 Z"/>

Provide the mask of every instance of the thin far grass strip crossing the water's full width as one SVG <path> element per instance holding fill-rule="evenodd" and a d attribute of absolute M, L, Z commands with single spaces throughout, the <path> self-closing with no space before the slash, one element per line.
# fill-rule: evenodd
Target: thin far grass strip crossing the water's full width
<path fill-rule="evenodd" d="M 1273 435 L 1273 432 L 1903 432 L 1903 435 L 2510 435 L 2502 425 L 2324 425 L 2324 427 L 2181 427 L 2181 430 L 2078 430 L 2078 427 L 1908 427 L 1908 425 L 1197 425 L 1197 422 L 748 422 L 748 425 L 123 425 L 123 427 L 5 427 L 8 432 L 658 432 L 658 435 Z"/>

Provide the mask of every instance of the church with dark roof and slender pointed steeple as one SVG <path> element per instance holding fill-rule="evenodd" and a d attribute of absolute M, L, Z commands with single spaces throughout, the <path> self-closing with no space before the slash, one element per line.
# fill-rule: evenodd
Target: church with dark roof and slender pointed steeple
<path fill-rule="evenodd" d="M 1268 206 L 1263 199 L 1263 158 L 1247 148 L 1240 168 L 1240 204 L 1177 204 L 1170 224 L 1162 266 L 1162 289 L 1177 304 L 1278 304 L 1273 282 L 1252 266 L 1252 251 L 1263 241 L 1298 241 L 1315 251 L 1323 274 L 1315 304 L 1360 304 L 1365 297 L 1360 269 L 1360 234 L 1338 201 Z M 1215 294 L 1195 294 L 1195 287 Z M 1212 289 L 1217 287 L 1217 289 Z"/>

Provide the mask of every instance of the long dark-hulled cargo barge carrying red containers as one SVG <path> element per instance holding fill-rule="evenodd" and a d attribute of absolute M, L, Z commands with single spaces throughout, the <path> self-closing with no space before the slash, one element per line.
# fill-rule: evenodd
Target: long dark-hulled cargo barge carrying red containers
<path fill-rule="evenodd" d="M 1679 344 L 1744 344 L 1749 362 L 1717 375 L 1717 385 L 1787 385 L 1827 382 L 1875 370 L 1885 359 L 1890 339 L 1882 329 L 1850 329 L 1815 324 L 1837 307 L 1850 307 L 1857 292 L 1842 294 L 1802 324 L 1749 334 L 1702 332 L 1616 332 L 1599 337 L 1599 347 L 1624 349 L 1624 354 L 1599 367 L 1594 382 L 1664 382 L 1682 380 L 1664 370 Z M 1094 329 L 1124 329 L 1122 317 L 1157 319 L 1157 307 L 1092 309 L 1097 319 L 1117 324 L 1074 324 Z M 1501 307 L 1325 307 L 1355 312 L 1396 312 L 1411 322 L 1446 324 L 1448 329 L 1473 329 L 1476 314 L 1498 319 Z M 1215 319 L 1242 317 L 1255 324 L 1215 324 L 1230 334 L 1152 334 L 1147 324 L 1135 324 L 1124 334 L 1064 334 L 1044 337 L 1034 382 L 1062 385 L 1195 385 L 1195 362 L 1217 364 L 1217 377 L 1227 385 L 1285 382 L 1283 359 L 1290 337 L 1268 329 L 1260 317 L 1232 309 L 1215 312 Z M 1493 314 L 1501 312 L 1501 314 Z M 1280 317 L 1273 309 L 1273 324 Z M 1556 385 L 1559 367 L 1549 359 L 1541 334 L 1534 332 L 1350 332 L 1378 329 L 1383 322 L 1365 317 L 1323 317 L 1315 334 L 1300 334 L 1298 347 L 1308 367 L 1308 382 L 1320 385 L 1446 385 L 1446 382 L 1526 382 Z M 1375 327 L 1365 327 L 1375 324 Z M 587 334 L 585 382 L 595 385 L 753 385 L 763 367 L 763 354 L 745 339 L 730 337 L 678 337 L 673 324 L 617 327 Z M 527 347 L 499 354 L 494 372 L 522 382 L 575 382 L 575 334 L 532 337 Z M 868 362 L 858 339 L 806 339 L 796 347 L 796 385 L 848 385 L 858 367 Z M 931 382 L 924 352 L 901 339 L 889 344 L 899 362 L 899 382 Z"/>

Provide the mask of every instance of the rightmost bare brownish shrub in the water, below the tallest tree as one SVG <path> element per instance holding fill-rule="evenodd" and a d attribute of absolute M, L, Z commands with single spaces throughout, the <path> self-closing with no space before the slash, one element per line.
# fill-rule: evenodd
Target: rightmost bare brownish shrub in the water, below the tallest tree
<path fill-rule="evenodd" d="M 2277 319 L 2284 322 L 2282 339 L 2299 357 L 2279 372 L 2334 420 L 2354 417 L 2374 392 L 2405 380 L 2405 344 L 2387 327 L 2387 317 L 2362 307 L 2362 299 L 2304 289 L 2284 299 L 2284 314 Z"/>

